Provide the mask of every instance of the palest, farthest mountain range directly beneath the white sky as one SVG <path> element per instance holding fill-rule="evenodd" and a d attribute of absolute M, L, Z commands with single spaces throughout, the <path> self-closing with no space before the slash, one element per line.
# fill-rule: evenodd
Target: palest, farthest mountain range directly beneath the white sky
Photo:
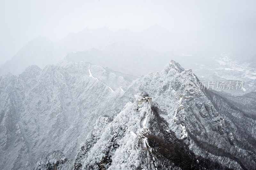
<path fill-rule="evenodd" d="M 19 74 L 31 64 L 43 68 L 47 64 L 56 64 L 66 53 L 84 51 L 92 47 L 102 50 L 106 45 L 118 41 L 137 42 L 144 44 L 148 49 L 161 53 L 172 52 L 175 56 L 184 53 L 204 58 L 226 53 L 240 62 L 252 62 L 251 65 L 254 67 L 255 45 L 253 38 L 256 35 L 255 31 L 251 29 L 254 23 L 243 23 L 244 27 L 240 23 L 235 23 L 180 34 L 172 34 L 158 26 L 152 26 L 140 32 L 111 31 L 108 28 L 84 29 L 78 33 L 67 35 L 57 43 L 48 42 L 44 46 L 33 46 L 33 41 L 31 41 L 28 43 L 32 43 L 29 48 L 26 47 L 27 44 L 20 50 L 24 51 L 23 53 L 19 51 L 11 60 L 3 64 L 0 70 L 1 74 L 8 72 Z M 231 28 L 232 31 L 230 31 Z M 43 42 L 44 40 L 41 43 Z"/>

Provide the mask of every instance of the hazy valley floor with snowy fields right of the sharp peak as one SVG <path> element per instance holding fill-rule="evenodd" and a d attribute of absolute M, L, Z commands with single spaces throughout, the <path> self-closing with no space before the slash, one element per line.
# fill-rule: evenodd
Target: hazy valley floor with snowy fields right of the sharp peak
<path fill-rule="evenodd" d="M 224 90 L 230 94 L 238 95 L 256 90 L 256 69 L 250 67 L 250 63 L 241 64 L 227 55 L 221 54 L 208 62 L 195 64 L 193 72 L 200 81 L 214 81 L 215 84 L 217 81 L 243 81 L 244 90 Z"/>

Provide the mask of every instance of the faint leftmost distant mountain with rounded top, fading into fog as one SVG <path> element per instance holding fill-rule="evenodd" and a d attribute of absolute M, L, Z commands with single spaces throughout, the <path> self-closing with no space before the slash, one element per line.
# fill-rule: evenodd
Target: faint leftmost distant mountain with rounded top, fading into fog
<path fill-rule="evenodd" d="M 11 60 L 1 65 L 0 75 L 7 73 L 18 75 L 31 65 L 44 68 L 47 64 L 56 63 L 65 54 L 66 51 L 57 43 L 45 37 L 37 37 L 20 49 Z"/>

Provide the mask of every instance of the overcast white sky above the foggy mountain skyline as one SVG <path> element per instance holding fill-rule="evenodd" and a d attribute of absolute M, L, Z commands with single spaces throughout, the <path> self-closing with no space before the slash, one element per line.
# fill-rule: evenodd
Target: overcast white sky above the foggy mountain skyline
<path fill-rule="evenodd" d="M 85 27 L 141 31 L 154 24 L 180 33 L 246 20 L 255 7 L 255 0 L 0 0 L 0 64 L 39 35 L 58 41 Z"/>

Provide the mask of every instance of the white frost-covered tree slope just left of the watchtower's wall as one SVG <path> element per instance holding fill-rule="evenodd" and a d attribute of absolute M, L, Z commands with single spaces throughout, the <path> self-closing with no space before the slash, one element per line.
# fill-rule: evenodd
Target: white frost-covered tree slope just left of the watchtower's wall
<path fill-rule="evenodd" d="M 124 110 L 110 124 L 94 128 L 88 135 L 86 143 L 83 144 L 76 157 L 78 160 L 80 154 L 83 153 L 83 158 L 79 160 L 80 168 L 97 168 L 99 167 L 98 165 L 104 164 L 104 161 L 108 159 L 107 157 L 112 156 L 113 153 L 118 153 L 118 156 L 116 155 L 116 158 L 112 159 L 116 162 L 122 162 L 119 166 L 123 168 L 138 167 L 138 152 L 130 153 L 129 151 L 132 152 L 136 148 L 136 144 L 134 144 L 136 142 L 133 141 L 138 140 L 135 139 L 136 135 L 132 137 L 130 133 L 136 133 L 139 127 L 140 114 L 136 112 L 136 105 L 132 103 L 126 104 Z M 77 160 L 76 167 L 78 168 L 79 163 Z M 113 167 L 113 169 L 117 169 L 117 167 Z"/>

